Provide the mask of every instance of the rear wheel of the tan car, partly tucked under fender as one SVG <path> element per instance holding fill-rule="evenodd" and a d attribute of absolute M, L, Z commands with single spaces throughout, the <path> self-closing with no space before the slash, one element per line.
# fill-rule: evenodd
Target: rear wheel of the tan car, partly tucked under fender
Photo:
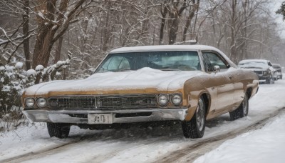
<path fill-rule="evenodd" d="M 247 93 L 244 94 L 244 100 L 242 100 L 242 104 L 239 105 L 237 109 L 232 112 L 229 112 L 229 117 L 233 121 L 238 118 L 246 117 L 249 114 L 249 98 L 247 97 Z"/>

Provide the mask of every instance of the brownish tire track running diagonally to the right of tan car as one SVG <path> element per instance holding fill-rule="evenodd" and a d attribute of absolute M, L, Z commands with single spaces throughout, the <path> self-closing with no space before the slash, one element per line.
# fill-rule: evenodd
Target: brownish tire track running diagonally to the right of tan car
<path fill-rule="evenodd" d="M 210 137 L 207 139 L 202 139 L 201 141 L 191 144 L 190 146 L 179 149 L 175 152 L 170 152 L 165 154 L 165 156 L 156 159 L 155 163 L 160 162 L 194 162 L 195 159 L 202 156 L 203 154 L 216 149 L 223 142 L 228 139 L 233 139 L 237 137 L 239 134 L 244 134 L 250 131 L 254 131 L 257 129 L 261 129 L 264 125 L 274 119 L 277 115 L 285 113 L 285 108 L 279 109 L 276 112 L 270 114 L 269 117 L 259 120 L 258 122 L 254 122 L 247 127 L 241 127 L 232 132 L 227 132 L 224 134 L 217 135 L 215 137 Z"/>

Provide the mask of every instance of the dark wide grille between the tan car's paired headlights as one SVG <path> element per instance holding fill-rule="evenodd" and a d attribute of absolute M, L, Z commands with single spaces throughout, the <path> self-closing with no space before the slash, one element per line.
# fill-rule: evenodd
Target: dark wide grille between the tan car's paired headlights
<path fill-rule="evenodd" d="M 48 104 L 52 109 L 128 109 L 157 107 L 155 94 L 51 97 Z"/>

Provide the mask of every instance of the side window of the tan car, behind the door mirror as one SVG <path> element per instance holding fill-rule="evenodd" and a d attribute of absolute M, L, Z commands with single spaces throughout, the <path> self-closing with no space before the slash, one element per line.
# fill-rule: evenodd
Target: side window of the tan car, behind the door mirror
<path fill-rule="evenodd" d="M 213 52 L 203 52 L 202 55 L 204 68 L 207 72 L 214 71 L 214 66 L 219 66 L 220 69 L 229 68 L 218 54 L 215 54 Z"/>

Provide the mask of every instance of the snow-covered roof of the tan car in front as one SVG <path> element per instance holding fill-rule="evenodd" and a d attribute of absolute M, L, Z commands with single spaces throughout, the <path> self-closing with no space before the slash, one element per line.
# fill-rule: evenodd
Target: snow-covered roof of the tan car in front
<path fill-rule="evenodd" d="M 156 45 L 156 46 L 132 46 L 113 49 L 110 53 L 143 52 L 143 51 L 219 51 L 213 46 L 206 45 Z"/>

